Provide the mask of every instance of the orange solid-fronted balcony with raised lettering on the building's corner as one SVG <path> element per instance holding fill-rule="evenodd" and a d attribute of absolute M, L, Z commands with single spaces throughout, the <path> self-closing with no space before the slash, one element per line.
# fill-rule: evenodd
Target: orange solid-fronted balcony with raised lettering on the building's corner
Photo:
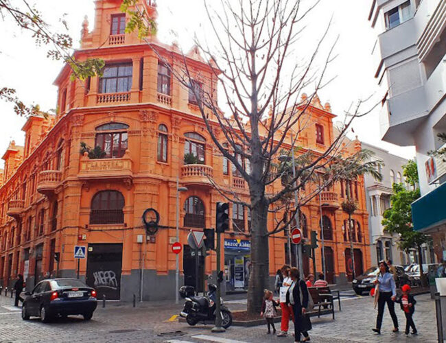
<path fill-rule="evenodd" d="M 107 180 L 121 179 L 124 182 L 133 178 L 132 159 L 130 152 L 121 158 L 95 158 L 90 159 L 88 153 L 80 159 L 78 178 L 81 180 Z"/>

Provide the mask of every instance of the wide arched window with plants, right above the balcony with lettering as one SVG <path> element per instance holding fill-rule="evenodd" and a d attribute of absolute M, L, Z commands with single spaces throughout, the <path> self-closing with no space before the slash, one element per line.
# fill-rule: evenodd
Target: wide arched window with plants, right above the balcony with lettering
<path fill-rule="evenodd" d="M 104 158 L 121 158 L 128 147 L 128 125 L 108 123 L 96 128 L 97 131 L 107 131 L 96 134 L 95 146 L 105 153 Z M 113 131 L 113 132 L 111 132 Z"/>

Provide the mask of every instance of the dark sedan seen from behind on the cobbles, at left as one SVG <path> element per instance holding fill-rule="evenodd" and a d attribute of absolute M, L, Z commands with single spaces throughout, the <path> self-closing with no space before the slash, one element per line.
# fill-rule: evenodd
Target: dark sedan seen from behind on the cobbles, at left
<path fill-rule="evenodd" d="M 40 317 L 49 322 L 58 316 L 80 314 L 90 320 L 97 307 L 95 289 L 78 279 L 46 279 L 40 281 L 32 292 L 25 292 L 22 318 Z"/>

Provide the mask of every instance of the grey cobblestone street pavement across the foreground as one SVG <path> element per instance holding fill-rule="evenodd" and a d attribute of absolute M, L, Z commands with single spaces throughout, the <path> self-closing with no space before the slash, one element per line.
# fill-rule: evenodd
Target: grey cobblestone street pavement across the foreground
<path fill-rule="evenodd" d="M 369 297 L 345 298 L 342 312 L 336 311 L 336 320 L 331 316 L 312 318 L 312 342 L 436 342 L 434 302 L 428 294 L 416 296 L 417 305 L 414 321 L 419 335 L 406 337 L 403 332 L 392 333 L 388 312 L 384 316 L 382 335 L 375 335 L 376 310 Z M 231 309 L 246 308 L 243 302 L 230 301 Z M 189 327 L 178 322 L 181 305 L 167 302 L 131 305 L 107 303 L 98 307 L 93 319 L 85 322 L 80 317 L 70 317 L 49 324 L 38 318 L 23 321 L 19 309 L 14 309 L 12 299 L 0 296 L 0 342 L 292 342 L 292 336 L 277 338 L 266 334 L 266 326 L 242 328 L 231 327 L 226 333 L 211 333 L 211 325 Z M 404 330 L 405 319 L 397 308 L 400 329 Z M 170 320 L 170 321 L 169 321 Z M 277 327 L 279 324 L 276 324 Z M 292 325 L 291 325 L 292 327 Z M 183 335 L 176 335 L 181 331 Z M 161 335 L 165 333 L 165 335 Z M 169 334 L 170 333 L 170 334 Z M 181 334 L 177 333 L 177 334 Z"/>

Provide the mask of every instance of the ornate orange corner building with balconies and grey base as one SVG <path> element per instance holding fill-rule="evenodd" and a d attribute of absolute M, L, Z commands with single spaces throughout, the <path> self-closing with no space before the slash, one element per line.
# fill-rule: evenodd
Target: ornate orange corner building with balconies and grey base
<path fill-rule="evenodd" d="M 218 153 L 194 104 L 193 93 L 172 78 L 159 55 L 175 67 L 183 56 L 177 45 L 150 38 L 157 53 L 136 34 L 124 32 L 126 15 L 119 1 L 97 0 L 95 25 L 82 25 L 81 49 L 75 58 L 102 58 L 102 77 L 85 82 L 71 80 L 65 66 L 58 78 L 58 113 L 30 117 L 23 131 L 25 147 L 10 143 L 3 155 L 5 167 L 0 188 L 0 281 L 11 285 L 17 273 L 25 275 L 27 288 L 47 276 L 75 276 L 75 246 L 86 246 L 80 259 L 80 278 L 99 296 L 130 300 L 174 298 L 176 256 L 176 196 L 178 178 L 187 191 L 180 198 L 181 284 L 194 284 L 195 269 L 187 246 L 189 230 L 215 226 L 215 203 L 224 201 L 214 189 L 235 191 L 248 198 L 243 178 Z M 144 1 L 156 18 L 156 6 Z M 196 83 L 217 97 L 217 80 L 192 49 L 187 63 Z M 309 107 L 312 123 L 301 133 L 298 145 L 323 151 L 334 139 L 329 104 L 316 97 Z M 220 134 L 218 123 L 213 123 Z M 223 141 L 223 137 L 222 137 Z M 84 147 L 101 149 L 81 152 Z M 290 149 L 290 141 L 284 149 Z M 360 142 L 344 147 L 360 149 Z M 272 185 L 271 187 L 277 187 Z M 330 282 L 347 280 L 349 243 L 344 230 L 347 215 L 340 209 L 346 185 L 338 183 L 302 209 L 304 233 L 320 222 L 325 233 L 325 261 Z M 367 213 L 362 178 L 352 187 L 360 209 L 355 213 L 357 271 L 371 264 Z M 145 235 L 141 216 L 148 208 L 160 213 L 163 226 L 154 237 Z M 322 213 L 321 213 L 322 212 Z M 245 288 L 249 271 L 248 209 L 231 205 L 230 229 L 222 239 L 226 290 Z M 270 228 L 274 225 L 271 215 Z M 320 244 L 319 244 L 320 246 Z M 270 273 L 287 259 L 283 232 L 270 237 Z M 322 270 L 320 248 L 316 269 Z M 57 257 L 57 258 L 55 258 Z M 215 252 L 200 257 L 200 279 L 215 273 Z M 295 262 L 294 262 L 295 263 Z M 312 263 L 305 258 L 305 272 Z"/>

